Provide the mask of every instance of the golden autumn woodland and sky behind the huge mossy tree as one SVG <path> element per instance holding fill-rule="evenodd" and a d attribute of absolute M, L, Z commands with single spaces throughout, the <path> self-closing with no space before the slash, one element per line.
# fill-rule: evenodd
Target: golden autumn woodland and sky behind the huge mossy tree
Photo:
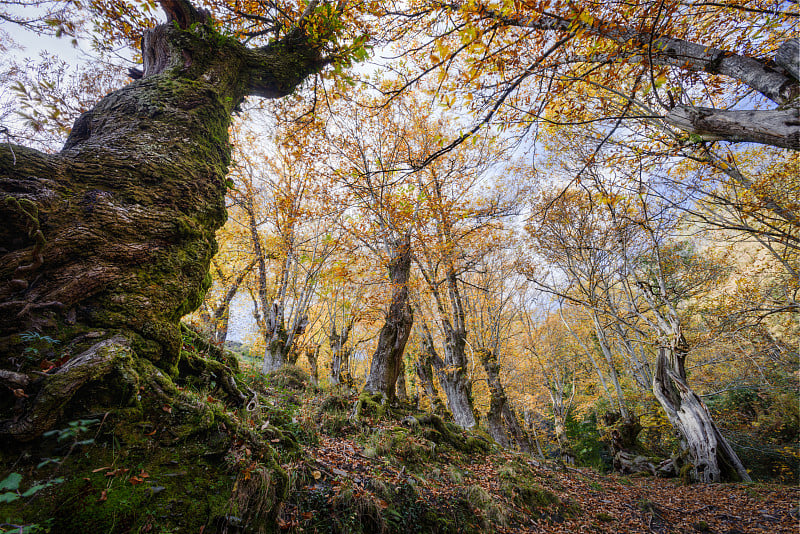
<path fill-rule="evenodd" d="M 197 4 L 245 42 L 308 7 Z M 683 372 L 747 476 L 796 483 L 797 127 L 757 126 L 796 115 L 797 92 L 725 70 L 796 47 L 795 2 L 312 4 L 309 32 L 334 35 L 339 59 L 236 110 L 228 220 L 186 323 L 245 374 L 296 365 L 325 390 L 375 391 L 402 289 L 413 326 L 384 400 L 565 465 L 703 479 L 681 472 L 692 453 L 669 407 L 683 401 L 654 385 Z M 85 51 L 22 59 L 4 35 L 2 134 L 59 150 L 130 81 L 160 16 L 146 1 L 0 2 L 0 31 Z M 696 65 L 656 57 L 693 42 Z M 695 112 L 749 115 L 720 130 Z M 232 341 L 240 322 L 255 329 Z"/>

